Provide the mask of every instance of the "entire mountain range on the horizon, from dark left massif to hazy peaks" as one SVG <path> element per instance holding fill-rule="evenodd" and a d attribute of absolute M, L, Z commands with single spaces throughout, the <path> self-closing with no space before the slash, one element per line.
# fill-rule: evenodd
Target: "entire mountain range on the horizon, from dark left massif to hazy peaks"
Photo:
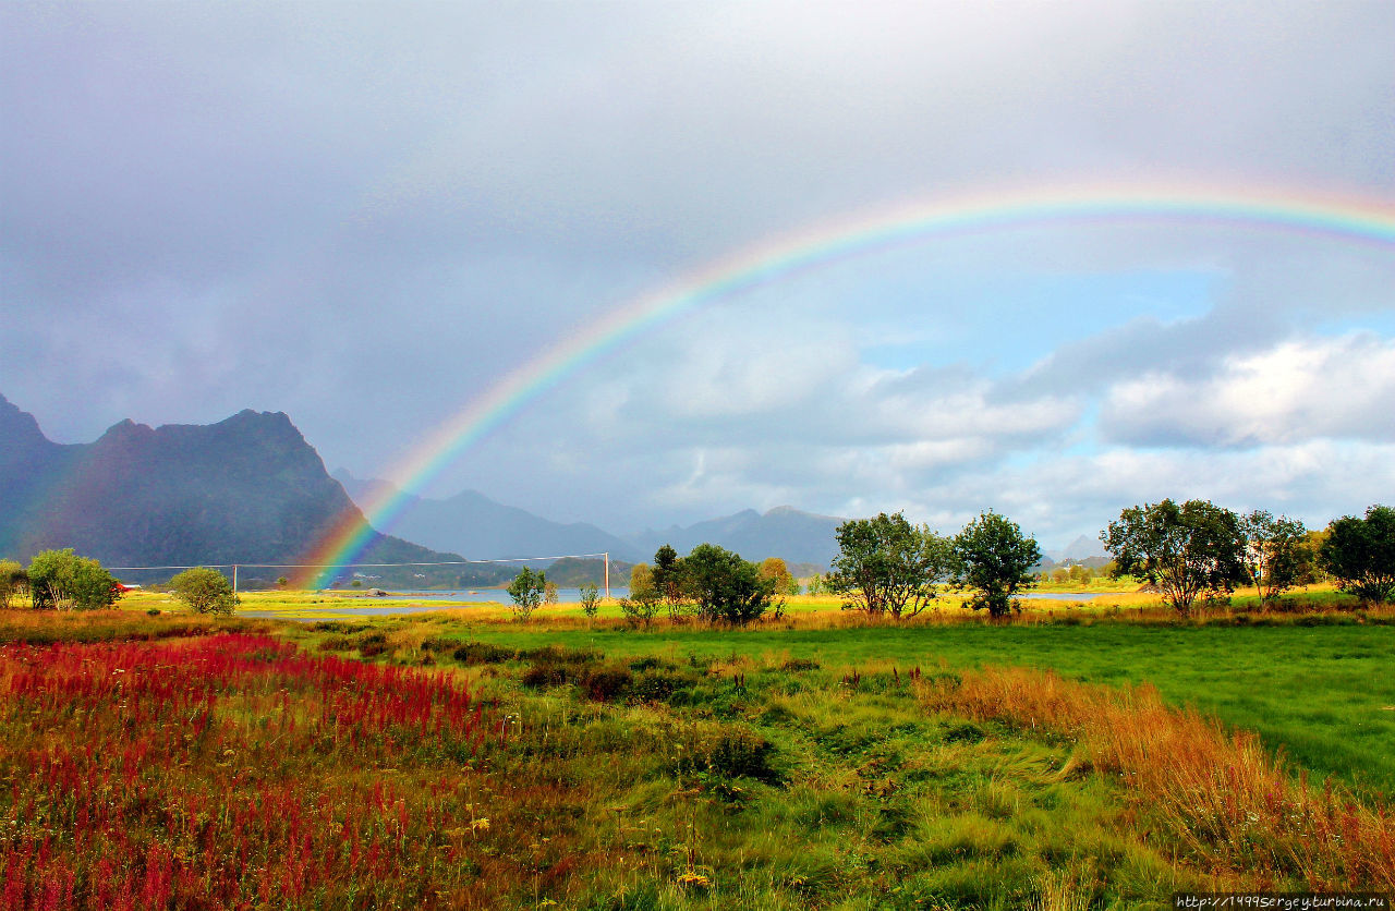
<path fill-rule="evenodd" d="M 432 499 L 345 469 L 331 476 L 280 412 L 244 410 L 209 426 L 152 428 L 126 420 L 91 444 L 56 444 L 32 414 L 0 395 L 0 557 L 28 559 L 40 550 L 73 547 L 110 566 L 293 564 L 338 522 L 361 520 L 363 508 L 384 497 L 407 501 L 391 529 L 400 537 L 374 532 L 360 562 L 600 552 L 612 564 L 647 562 L 663 544 L 686 554 L 707 541 L 752 561 L 781 557 L 797 575 L 809 575 L 837 555 L 843 522 L 777 506 L 615 534 L 585 522 L 552 522 L 473 490 Z M 1043 564 L 1081 562 L 1099 551 L 1098 541 L 1081 537 Z M 382 572 L 381 585 L 478 586 L 512 571 L 442 568 L 396 573 L 402 579 Z"/>

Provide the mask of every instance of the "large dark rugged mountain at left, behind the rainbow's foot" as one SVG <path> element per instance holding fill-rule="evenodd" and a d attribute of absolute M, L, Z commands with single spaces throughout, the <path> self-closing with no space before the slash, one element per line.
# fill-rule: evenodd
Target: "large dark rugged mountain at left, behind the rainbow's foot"
<path fill-rule="evenodd" d="M 346 511 L 361 518 L 282 413 L 127 420 L 95 442 L 59 445 L 0 396 L 0 557 L 71 547 L 109 566 L 286 564 Z M 378 534 L 363 559 L 451 558 Z"/>

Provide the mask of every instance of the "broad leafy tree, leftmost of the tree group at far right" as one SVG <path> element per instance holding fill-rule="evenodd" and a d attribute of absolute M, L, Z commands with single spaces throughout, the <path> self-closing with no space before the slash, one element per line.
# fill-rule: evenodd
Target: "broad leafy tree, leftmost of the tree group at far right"
<path fill-rule="evenodd" d="M 1115 558 L 1115 578 L 1143 576 L 1183 615 L 1202 594 L 1228 596 L 1249 575 L 1239 516 L 1205 499 L 1131 506 L 1099 540 Z"/>

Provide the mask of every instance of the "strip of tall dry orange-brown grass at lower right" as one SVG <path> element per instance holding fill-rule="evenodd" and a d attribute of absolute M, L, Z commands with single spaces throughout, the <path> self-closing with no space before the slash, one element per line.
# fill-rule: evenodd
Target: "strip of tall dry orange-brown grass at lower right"
<path fill-rule="evenodd" d="M 1106 688 L 986 668 L 926 684 L 926 703 L 1074 738 L 1073 770 L 1117 777 L 1196 858 L 1265 886 L 1395 891 L 1395 815 L 1295 780 L 1247 731 L 1163 705 L 1149 685 Z"/>

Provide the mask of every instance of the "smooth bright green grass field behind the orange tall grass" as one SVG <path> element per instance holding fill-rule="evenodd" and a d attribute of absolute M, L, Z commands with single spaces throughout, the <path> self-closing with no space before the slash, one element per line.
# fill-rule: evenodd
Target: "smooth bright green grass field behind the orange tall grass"
<path fill-rule="evenodd" d="M 608 656 L 700 661 L 809 658 L 854 668 L 1052 668 L 1089 682 L 1151 682 L 1260 732 L 1295 765 L 1336 774 L 1366 792 L 1395 794 L 1395 626 L 1161 626 L 1131 624 L 914 625 L 830 629 L 629 631 L 470 624 L 458 618 L 379 618 L 386 629 L 427 625 L 448 636 L 512 649 L 590 647 Z"/>

